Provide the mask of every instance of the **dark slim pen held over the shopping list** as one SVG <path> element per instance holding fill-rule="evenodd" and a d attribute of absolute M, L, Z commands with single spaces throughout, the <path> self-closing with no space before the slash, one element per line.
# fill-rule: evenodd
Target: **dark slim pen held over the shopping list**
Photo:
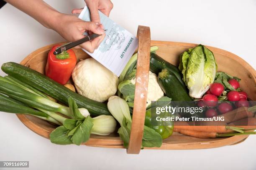
<path fill-rule="evenodd" d="M 107 31 L 107 30 L 105 30 L 105 31 Z M 90 41 L 90 40 L 92 40 L 96 37 L 99 37 L 99 36 L 100 36 L 100 34 L 86 35 L 86 37 L 84 37 L 80 40 L 77 40 L 77 41 L 74 41 L 74 42 L 69 42 L 67 44 L 61 45 L 58 48 L 56 48 L 56 50 L 54 51 L 54 55 L 60 54 L 63 51 L 67 51 L 70 48 L 73 48 L 73 47 L 75 47 L 77 45 L 80 45 L 84 42 Z"/>

